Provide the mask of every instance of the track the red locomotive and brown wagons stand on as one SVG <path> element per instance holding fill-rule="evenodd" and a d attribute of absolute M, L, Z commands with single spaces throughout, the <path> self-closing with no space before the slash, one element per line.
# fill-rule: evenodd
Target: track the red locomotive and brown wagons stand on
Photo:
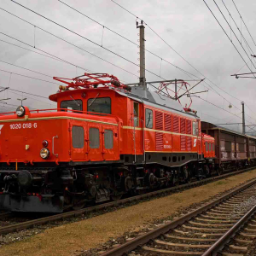
<path fill-rule="evenodd" d="M 38 225 L 42 225 L 42 224 L 48 224 L 50 222 L 60 221 L 60 220 L 66 219 L 66 218 L 78 217 L 80 215 L 83 215 L 83 214 L 89 213 L 89 212 L 102 211 L 102 210 L 105 210 L 105 209 L 110 208 L 110 207 L 118 207 L 118 206 L 124 205 L 126 203 L 131 203 L 133 201 L 139 201 L 139 200 L 147 199 L 147 198 L 150 198 L 150 197 L 154 197 L 156 195 L 165 195 L 165 194 L 168 194 L 168 193 L 173 193 L 173 192 L 181 191 L 181 190 L 184 190 L 184 189 L 197 187 L 197 186 L 200 186 L 202 184 L 206 184 L 206 183 L 210 183 L 210 182 L 213 182 L 213 181 L 216 181 L 216 180 L 219 180 L 219 179 L 230 177 L 230 176 L 239 174 L 241 172 L 251 171 L 253 169 L 255 169 L 255 167 L 247 168 L 246 170 L 226 173 L 226 174 L 223 174 L 223 175 L 220 175 L 220 176 L 217 176 L 217 177 L 209 177 L 209 178 L 197 181 L 197 182 L 182 184 L 182 185 L 179 185 L 177 187 L 172 187 L 172 188 L 168 188 L 168 189 L 160 189 L 160 190 L 156 190 L 156 191 L 153 191 L 153 192 L 148 192 L 147 194 L 128 197 L 128 198 L 125 198 L 125 199 L 122 199 L 122 200 L 119 200 L 119 201 L 111 201 L 111 202 L 104 203 L 104 204 L 97 205 L 97 206 L 93 206 L 93 207 L 86 207 L 84 209 L 77 210 L 77 211 L 63 212 L 63 213 L 60 213 L 60 214 L 55 214 L 55 215 L 51 215 L 51 216 L 44 217 L 44 218 L 36 218 L 36 219 L 24 221 L 24 222 L 19 221 L 18 223 L 15 223 L 15 224 L 9 224 L 9 225 L 2 226 L 0 228 L 0 235 L 4 235 L 4 234 L 8 234 L 8 233 L 15 232 L 15 231 L 20 231 L 20 230 L 33 228 L 34 226 L 38 226 Z M 1 214 L 0 214 L 0 219 L 1 218 L 2 217 L 1 217 Z M 3 213 L 3 218 L 13 218 L 13 213 L 5 212 L 5 213 Z"/>

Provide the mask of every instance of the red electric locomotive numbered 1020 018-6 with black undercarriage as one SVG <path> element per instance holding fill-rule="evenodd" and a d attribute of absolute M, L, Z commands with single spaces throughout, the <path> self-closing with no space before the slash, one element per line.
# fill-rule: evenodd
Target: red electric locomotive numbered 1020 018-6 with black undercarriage
<path fill-rule="evenodd" d="M 56 109 L 0 116 L 0 209 L 62 212 L 210 174 L 214 138 L 177 101 L 108 74 L 54 79 Z"/>

